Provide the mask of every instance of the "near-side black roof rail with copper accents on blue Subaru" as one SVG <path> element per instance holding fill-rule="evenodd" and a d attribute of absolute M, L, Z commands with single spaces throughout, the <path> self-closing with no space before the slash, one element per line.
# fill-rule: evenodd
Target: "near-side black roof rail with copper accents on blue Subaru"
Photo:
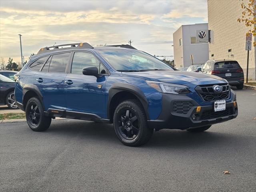
<path fill-rule="evenodd" d="M 64 46 L 68 46 L 63 48 Z M 54 45 L 54 46 L 50 46 L 50 47 L 44 47 L 41 48 L 38 54 L 43 54 L 43 53 L 47 53 L 47 52 L 52 52 L 52 51 L 56 51 L 56 49 L 61 49 L 61 50 L 65 50 L 65 49 L 93 49 L 94 47 L 91 46 L 88 43 L 70 43 L 70 44 L 63 44 L 63 45 Z"/>

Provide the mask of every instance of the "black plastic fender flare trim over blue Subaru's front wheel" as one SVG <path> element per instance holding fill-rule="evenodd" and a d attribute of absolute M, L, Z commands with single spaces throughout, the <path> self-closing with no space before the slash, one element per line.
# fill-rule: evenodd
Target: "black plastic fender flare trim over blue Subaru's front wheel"
<path fill-rule="evenodd" d="M 130 92 L 140 100 L 145 110 L 146 117 L 149 120 L 150 118 L 148 114 L 148 100 L 146 99 L 144 93 L 142 92 L 142 90 L 140 90 L 140 88 L 128 83 L 114 83 L 108 90 L 107 118 L 110 119 L 110 102 L 112 98 L 115 94 L 122 91 Z"/>

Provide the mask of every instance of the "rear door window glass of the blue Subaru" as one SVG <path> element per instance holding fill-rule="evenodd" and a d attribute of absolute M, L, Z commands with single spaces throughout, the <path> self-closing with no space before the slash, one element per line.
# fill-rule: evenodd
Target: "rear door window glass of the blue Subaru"
<path fill-rule="evenodd" d="M 49 72 L 64 73 L 70 58 L 70 53 L 62 53 L 52 56 Z"/>

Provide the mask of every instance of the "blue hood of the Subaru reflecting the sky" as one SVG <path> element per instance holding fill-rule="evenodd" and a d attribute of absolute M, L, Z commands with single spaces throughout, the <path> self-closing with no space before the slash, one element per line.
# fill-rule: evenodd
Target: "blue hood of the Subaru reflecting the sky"
<path fill-rule="evenodd" d="M 144 80 L 159 81 L 174 84 L 186 84 L 192 82 L 205 82 L 219 80 L 220 83 L 226 83 L 226 80 L 203 73 L 187 71 L 144 71 L 144 72 L 122 72 L 123 74 L 142 78 Z"/>

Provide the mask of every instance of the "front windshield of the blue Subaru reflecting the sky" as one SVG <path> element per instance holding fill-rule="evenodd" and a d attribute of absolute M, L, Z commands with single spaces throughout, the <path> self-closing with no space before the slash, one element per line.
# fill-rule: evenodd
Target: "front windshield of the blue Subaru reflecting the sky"
<path fill-rule="evenodd" d="M 168 64 L 138 50 L 98 50 L 117 71 L 173 70 Z"/>

